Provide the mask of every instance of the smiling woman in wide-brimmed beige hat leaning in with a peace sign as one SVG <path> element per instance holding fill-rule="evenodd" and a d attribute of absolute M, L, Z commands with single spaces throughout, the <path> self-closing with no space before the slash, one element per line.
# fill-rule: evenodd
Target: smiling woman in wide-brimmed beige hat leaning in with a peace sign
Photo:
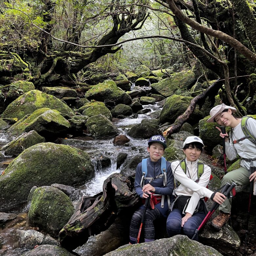
<path fill-rule="evenodd" d="M 246 185 L 250 181 L 256 181 L 256 172 L 250 175 L 250 165 L 256 166 L 256 145 L 245 136 L 241 118 L 236 118 L 232 113 L 236 112 L 236 108 L 227 106 L 224 103 L 211 109 L 210 118 L 207 122 L 217 122 L 221 126 L 231 127 L 232 139 L 230 142 L 227 134 L 223 134 L 219 127 L 216 127 L 221 133 L 220 137 L 225 138 L 225 151 L 229 160 L 234 160 L 237 155 L 241 158 L 240 168 L 228 172 L 221 181 L 221 184 L 226 182 L 235 182 L 237 185 Z M 256 120 L 248 118 L 246 120 L 246 127 L 249 133 L 256 138 Z M 231 210 L 231 198 L 225 200 L 220 206 L 220 214 L 212 220 L 211 225 L 220 230 L 222 226 L 228 221 Z"/>

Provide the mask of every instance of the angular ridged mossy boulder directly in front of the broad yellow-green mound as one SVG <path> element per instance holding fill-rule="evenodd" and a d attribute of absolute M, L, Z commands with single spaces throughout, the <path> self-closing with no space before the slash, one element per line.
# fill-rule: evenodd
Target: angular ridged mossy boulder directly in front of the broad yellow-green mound
<path fill-rule="evenodd" d="M 21 135 L 23 132 L 35 130 L 43 137 L 49 137 L 65 133 L 70 127 L 70 123 L 57 110 L 41 108 L 20 119 L 8 131 L 11 135 Z"/>

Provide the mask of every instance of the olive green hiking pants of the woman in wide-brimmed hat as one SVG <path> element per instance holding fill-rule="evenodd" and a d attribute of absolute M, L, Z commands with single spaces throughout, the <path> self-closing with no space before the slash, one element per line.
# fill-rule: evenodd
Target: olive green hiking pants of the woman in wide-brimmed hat
<path fill-rule="evenodd" d="M 249 171 L 244 167 L 240 167 L 224 175 L 223 179 L 221 180 L 221 186 L 224 186 L 226 182 L 230 184 L 232 182 L 235 182 L 237 185 L 248 185 L 250 183 L 249 176 L 250 176 Z M 226 198 L 224 203 L 220 205 L 219 209 L 225 213 L 230 213 L 231 201 L 232 201 L 232 198 L 228 198 L 228 199 Z"/>

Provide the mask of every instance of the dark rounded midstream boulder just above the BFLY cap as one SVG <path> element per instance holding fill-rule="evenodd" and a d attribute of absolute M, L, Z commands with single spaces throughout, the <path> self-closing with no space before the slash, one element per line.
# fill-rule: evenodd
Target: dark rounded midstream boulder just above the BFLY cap
<path fill-rule="evenodd" d="M 153 123 L 139 123 L 135 124 L 127 135 L 137 139 L 148 139 L 157 134 L 158 128 L 159 125 Z"/>

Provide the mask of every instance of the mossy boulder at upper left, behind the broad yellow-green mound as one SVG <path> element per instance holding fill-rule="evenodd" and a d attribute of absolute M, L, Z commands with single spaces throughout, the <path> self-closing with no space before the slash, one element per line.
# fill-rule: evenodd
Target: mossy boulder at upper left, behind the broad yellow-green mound
<path fill-rule="evenodd" d="M 27 93 L 31 90 L 34 90 L 35 86 L 32 82 L 28 81 L 16 81 L 10 84 L 9 91 L 6 95 L 6 100 L 8 102 L 13 101 L 18 98 L 21 94 Z"/>

